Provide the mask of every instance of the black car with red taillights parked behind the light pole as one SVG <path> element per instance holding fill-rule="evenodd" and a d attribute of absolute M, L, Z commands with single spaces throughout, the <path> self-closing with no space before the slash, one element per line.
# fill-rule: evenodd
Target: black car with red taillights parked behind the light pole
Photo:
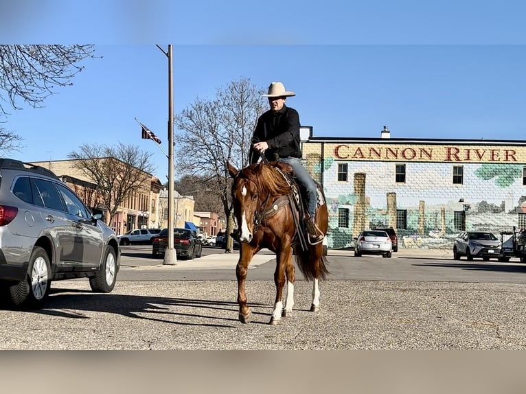
<path fill-rule="evenodd" d="M 152 257 L 164 255 L 168 246 L 168 229 L 162 229 L 152 242 Z M 177 257 L 185 257 L 192 260 L 201 257 L 203 253 L 203 242 L 197 237 L 195 231 L 190 229 L 174 229 L 174 249 Z"/>

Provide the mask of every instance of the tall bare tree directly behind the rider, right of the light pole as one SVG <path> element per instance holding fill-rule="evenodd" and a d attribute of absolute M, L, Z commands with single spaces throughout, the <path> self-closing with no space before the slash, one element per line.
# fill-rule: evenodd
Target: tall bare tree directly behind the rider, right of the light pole
<path fill-rule="evenodd" d="M 233 215 L 226 163 L 230 161 L 238 168 L 248 165 L 250 140 L 266 105 L 251 80 L 242 78 L 218 89 L 214 100 L 198 98 L 174 117 L 177 170 L 214 181 L 210 188 L 220 196 L 228 237 Z"/>

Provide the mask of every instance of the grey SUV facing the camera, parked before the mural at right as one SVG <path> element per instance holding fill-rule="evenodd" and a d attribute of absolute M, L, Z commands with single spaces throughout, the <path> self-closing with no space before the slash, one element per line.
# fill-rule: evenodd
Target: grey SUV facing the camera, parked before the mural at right
<path fill-rule="evenodd" d="M 501 241 L 488 231 L 463 231 L 453 245 L 453 258 L 459 260 L 461 256 L 468 260 L 482 258 L 485 262 L 491 258 L 500 259 L 503 256 Z"/>

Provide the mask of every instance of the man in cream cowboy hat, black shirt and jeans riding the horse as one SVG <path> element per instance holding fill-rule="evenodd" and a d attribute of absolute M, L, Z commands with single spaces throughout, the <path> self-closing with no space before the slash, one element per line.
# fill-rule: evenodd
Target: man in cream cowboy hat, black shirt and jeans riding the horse
<path fill-rule="evenodd" d="M 268 86 L 268 93 L 262 94 L 268 97 L 271 109 L 258 119 L 249 161 L 251 164 L 257 163 L 261 154 L 268 161 L 282 161 L 293 167 L 299 189 L 306 200 L 306 228 L 310 244 L 314 245 L 323 241 L 323 234 L 315 224 L 317 185 L 300 161 L 302 153 L 299 142 L 299 114 L 294 108 L 285 105 L 287 97 L 295 95 L 294 92 L 286 91 L 282 82 L 272 82 Z"/>

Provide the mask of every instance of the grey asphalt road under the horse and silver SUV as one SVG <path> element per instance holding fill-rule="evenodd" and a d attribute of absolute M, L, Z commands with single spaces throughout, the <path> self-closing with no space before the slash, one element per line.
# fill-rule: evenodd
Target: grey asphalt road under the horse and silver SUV
<path fill-rule="evenodd" d="M 526 270 L 520 264 L 330 252 L 321 310 L 309 312 L 312 284 L 298 280 L 292 316 L 271 326 L 272 255 L 249 271 L 249 324 L 237 318 L 236 252 L 187 266 L 147 258 L 124 250 L 109 294 L 91 292 L 85 279 L 58 281 L 43 310 L 0 310 L 1 349 L 526 347 Z"/>

